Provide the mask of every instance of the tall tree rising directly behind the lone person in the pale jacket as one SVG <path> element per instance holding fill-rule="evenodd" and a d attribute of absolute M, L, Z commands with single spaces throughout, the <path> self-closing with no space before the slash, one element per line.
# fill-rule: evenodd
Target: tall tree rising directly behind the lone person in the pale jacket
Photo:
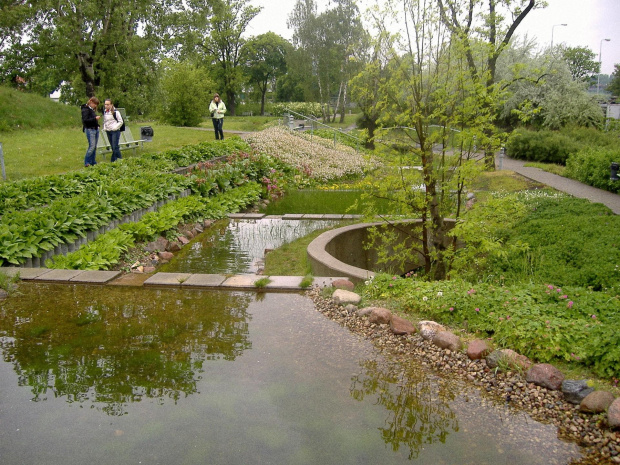
<path fill-rule="evenodd" d="M 207 60 L 216 65 L 215 77 L 226 97 L 226 107 L 235 114 L 237 94 L 243 84 L 241 50 L 246 42 L 243 33 L 261 8 L 249 5 L 249 0 L 211 0 L 210 31 L 201 48 Z"/>

